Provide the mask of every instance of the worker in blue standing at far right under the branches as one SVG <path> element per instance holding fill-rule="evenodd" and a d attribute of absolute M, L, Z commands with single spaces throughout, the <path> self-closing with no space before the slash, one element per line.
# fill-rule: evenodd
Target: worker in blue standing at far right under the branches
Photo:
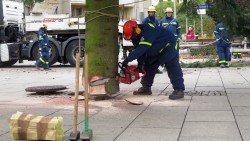
<path fill-rule="evenodd" d="M 228 62 L 230 58 L 230 40 L 228 29 L 225 28 L 223 23 L 216 25 L 214 35 L 217 38 L 216 51 L 219 56 L 219 64 L 221 68 L 228 68 Z"/>

